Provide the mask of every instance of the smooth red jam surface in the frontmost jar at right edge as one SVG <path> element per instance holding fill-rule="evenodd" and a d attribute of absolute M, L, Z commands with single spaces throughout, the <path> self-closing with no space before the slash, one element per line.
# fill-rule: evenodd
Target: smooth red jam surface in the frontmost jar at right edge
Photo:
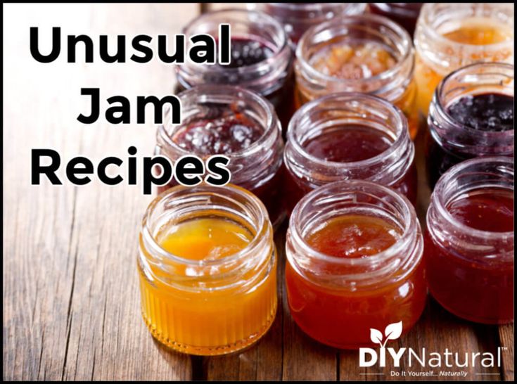
<path fill-rule="evenodd" d="M 449 203 L 447 210 L 462 224 L 480 231 L 513 231 L 513 196 L 505 191 L 481 191 Z"/>

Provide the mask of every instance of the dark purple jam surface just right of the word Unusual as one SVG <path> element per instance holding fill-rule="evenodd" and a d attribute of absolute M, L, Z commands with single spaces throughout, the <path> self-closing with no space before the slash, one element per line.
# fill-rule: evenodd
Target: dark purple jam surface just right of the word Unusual
<path fill-rule="evenodd" d="M 225 68 L 241 68 L 247 65 L 254 65 L 274 56 L 274 51 L 255 39 L 245 37 L 234 37 L 231 39 L 231 60 Z"/>

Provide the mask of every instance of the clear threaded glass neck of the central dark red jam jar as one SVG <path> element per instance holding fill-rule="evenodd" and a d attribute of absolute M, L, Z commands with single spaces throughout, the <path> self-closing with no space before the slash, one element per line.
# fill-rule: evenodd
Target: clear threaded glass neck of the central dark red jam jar
<path fill-rule="evenodd" d="M 390 147 L 366 160 L 333 162 L 308 153 L 305 142 L 323 129 L 347 125 L 371 127 L 392 140 Z M 343 143 L 346 145 L 346 143 Z M 376 96 L 333 94 L 306 103 L 289 124 L 286 167 L 312 187 L 343 179 L 367 179 L 391 185 L 402 179 L 414 159 L 407 119 L 400 109 Z"/>

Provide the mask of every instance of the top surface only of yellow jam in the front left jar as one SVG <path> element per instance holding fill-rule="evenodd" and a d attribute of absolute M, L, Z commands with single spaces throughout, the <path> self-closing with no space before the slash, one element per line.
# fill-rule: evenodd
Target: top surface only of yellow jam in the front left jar
<path fill-rule="evenodd" d="M 167 252 L 191 260 L 217 260 L 243 250 L 252 233 L 236 222 L 201 218 L 174 224 L 160 234 Z"/>

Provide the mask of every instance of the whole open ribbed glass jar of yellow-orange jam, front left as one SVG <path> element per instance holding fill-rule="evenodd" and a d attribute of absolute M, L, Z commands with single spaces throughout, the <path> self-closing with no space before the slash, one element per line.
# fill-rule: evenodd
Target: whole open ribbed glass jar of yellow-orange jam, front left
<path fill-rule="evenodd" d="M 143 319 L 179 352 L 241 350 L 276 314 L 276 250 L 264 205 L 243 188 L 176 186 L 143 217 L 138 269 Z"/>

